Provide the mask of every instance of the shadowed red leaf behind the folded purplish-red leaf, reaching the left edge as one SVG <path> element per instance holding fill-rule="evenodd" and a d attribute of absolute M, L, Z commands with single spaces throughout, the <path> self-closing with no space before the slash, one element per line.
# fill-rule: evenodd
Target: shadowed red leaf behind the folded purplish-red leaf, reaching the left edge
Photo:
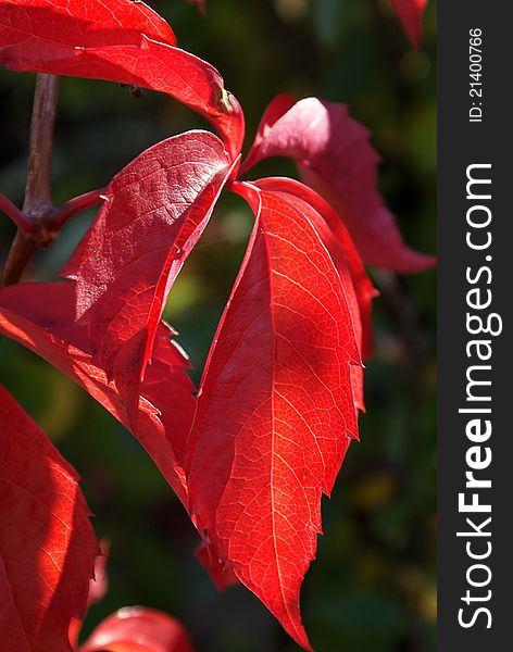
<path fill-rule="evenodd" d="M 2 288 L 0 333 L 70 376 L 128 427 L 128 414 L 114 383 L 109 381 L 105 373 L 92 362 L 87 329 L 73 323 L 75 303 L 73 283 Z M 188 361 L 170 340 L 171 335 L 164 324 L 158 329 L 153 362 L 141 387 L 138 427 L 134 435 L 186 504 L 179 456 L 195 411 L 193 386 L 185 374 Z M 164 392 L 162 384 L 168 384 L 173 391 Z"/>

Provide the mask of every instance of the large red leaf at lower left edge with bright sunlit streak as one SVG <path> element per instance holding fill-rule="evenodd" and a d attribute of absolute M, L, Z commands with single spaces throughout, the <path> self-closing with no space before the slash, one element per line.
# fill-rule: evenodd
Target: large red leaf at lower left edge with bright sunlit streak
<path fill-rule="evenodd" d="M 0 631 L 9 652 L 71 652 L 98 543 L 78 475 L 0 386 Z"/>

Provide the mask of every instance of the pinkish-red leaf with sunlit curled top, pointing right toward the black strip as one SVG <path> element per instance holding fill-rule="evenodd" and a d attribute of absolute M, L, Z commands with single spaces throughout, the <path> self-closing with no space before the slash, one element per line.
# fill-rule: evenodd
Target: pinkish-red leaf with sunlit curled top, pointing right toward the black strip
<path fill-rule="evenodd" d="M 379 158 L 365 127 L 349 116 L 343 104 L 316 98 L 299 101 L 265 129 L 243 170 L 267 156 L 290 156 L 300 163 L 303 179 L 337 211 L 367 264 L 397 272 L 435 264 L 433 256 L 416 253 L 402 241 L 376 190 Z"/>

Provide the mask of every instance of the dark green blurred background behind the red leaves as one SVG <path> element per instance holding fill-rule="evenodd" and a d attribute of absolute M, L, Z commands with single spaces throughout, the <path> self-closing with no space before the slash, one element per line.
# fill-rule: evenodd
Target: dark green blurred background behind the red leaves
<path fill-rule="evenodd" d="M 380 190 L 406 241 L 436 244 L 436 4 L 421 51 L 389 0 L 209 0 L 203 17 L 185 0 L 151 3 L 178 43 L 214 64 L 246 113 L 249 147 L 262 111 L 280 91 L 347 102 L 383 156 Z M 0 71 L 0 189 L 23 201 L 34 75 Z M 167 97 L 136 99 L 114 84 L 63 78 L 53 199 L 104 186 L 148 146 L 207 127 Z M 210 127 L 207 127 L 210 128 Z M 295 175 L 281 160 L 254 174 Z M 32 260 L 25 279 L 52 279 L 93 217 L 82 213 Z M 165 316 L 201 369 L 246 247 L 251 215 L 226 196 L 187 262 Z M 14 229 L 0 215 L 0 262 Z M 435 272 L 372 272 L 376 351 L 366 364 L 367 413 L 331 500 L 325 536 L 302 591 L 318 652 L 435 649 L 436 414 Z M 47 363 L 0 341 L 2 383 L 84 478 L 99 537 L 111 542 L 110 586 L 85 632 L 118 607 L 142 604 L 178 617 L 199 652 L 293 652 L 299 648 L 245 588 L 218 593 L 192 550 L 188 516 L 139 444 Z"/>

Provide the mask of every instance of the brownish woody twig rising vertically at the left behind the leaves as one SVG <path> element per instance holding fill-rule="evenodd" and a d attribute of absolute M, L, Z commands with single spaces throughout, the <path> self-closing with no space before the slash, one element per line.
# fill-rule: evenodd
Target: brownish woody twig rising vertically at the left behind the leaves
<path fill-rule="evenodd" d="M 46 217 L 53 211 L 50 181 L 58 92 L 58 76 L 42 73 L 37 75 L 23 214 L 38 231 L 41 230 L 40 226 Z M 3 267 L 2 286 L 20 280 L 35 247 L 36 239 L 18 227 Z"/>

